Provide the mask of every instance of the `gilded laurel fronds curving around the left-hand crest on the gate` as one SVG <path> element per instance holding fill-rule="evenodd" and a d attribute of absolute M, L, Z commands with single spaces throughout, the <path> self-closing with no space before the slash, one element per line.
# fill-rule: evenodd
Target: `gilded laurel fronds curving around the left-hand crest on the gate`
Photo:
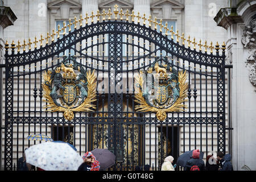
<path fill-rule="evenodd" d="M 64 112 L 63 116 L 68 121 L 74 118 L 73 112 L 81 112 L 81 111 L 93 111 L 92 109 L 96 109 L 95 105 L 91 104 L 92 102 L 96 101 L 96 76 L 94 75 L 94 71 L 87 71 L 86 78 L 88 81 L 88 94 L 87 97 L 84 98 L 84 101 L 79 105 L 75 106 L 75 104 L 67 105 L 63 104 L 63 106 L 56 104 L 56 102 L 51 97 L 51 87 L 53 79 L 52 71 L 48 70 L 43 73 L 44 82 L 42 83 L 43 88 L 43 97 L 45 98 L 43 101 L 47 102 L 45 106 L 46 110 L 49 112 Z"/>

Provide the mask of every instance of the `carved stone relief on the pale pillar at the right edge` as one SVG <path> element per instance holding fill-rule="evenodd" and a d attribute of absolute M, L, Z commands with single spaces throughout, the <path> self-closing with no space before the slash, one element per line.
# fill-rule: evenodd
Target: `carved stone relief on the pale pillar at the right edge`
<path fill-rule="evenodd" d="M 253 22 L 253 20 L 251 21 Z M 249 79 L 255 86 L 256 92 L 256 32 L 253 31 L 252 23 L 245 27 L 242 35 L 243 48 L 247 50 L 246 67 L 249 69 Z"/>

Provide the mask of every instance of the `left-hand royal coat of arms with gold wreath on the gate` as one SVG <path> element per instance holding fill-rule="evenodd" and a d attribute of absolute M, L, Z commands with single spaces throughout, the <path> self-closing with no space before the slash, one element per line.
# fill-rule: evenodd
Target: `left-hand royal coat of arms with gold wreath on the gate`
<path fill-rule="evenodd" d="M 55 69 L 43 73 L 43 78 L 43 101 L 47 102 L 47 111 L 63 112 L 64 118 L 71 121 L 74 118 L 73 112 L 96 109 L 92 105 L 92 102 L 96 101 L 94 71 L 86 72 L 75 57 L 64 56 L 63 61 L 56 65 Z"/>

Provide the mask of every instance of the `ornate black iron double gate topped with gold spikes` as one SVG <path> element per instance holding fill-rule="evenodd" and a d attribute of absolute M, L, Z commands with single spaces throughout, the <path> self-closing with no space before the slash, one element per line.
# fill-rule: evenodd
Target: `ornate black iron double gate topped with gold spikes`
<path fill-rule="evenodd" d="M 53 30 L 51 41 L 47 34 L 46 46 L 43 36 L 39 39 L 40 47 L 35 40 L 33 51 L 31 40 L 27 44 L 24 40 L 22 45 L 12 43 L 11 47 L 6 42 L 5 169 L 13 169 L 24 148 L 38 143 L 26 139 L 36 133 L 71 142 L 81 155 L 94 148 L 108 148 L 117 157 L 114 170 L 134 169 L 144 164 L 160 169 L 167 155 L 175 156 L 176 160 L 182 152 L 195 148 L 207 153 L 225 152 L 225 44 L 219 53 L 218 43 L 214 47 L 201 40 L 196 43 L 189 36 L 185 39 L 184 34 L 169 30 L 168 24 L 164 27 L 162 20 L 152 20 L 151 16 L 147 19 L 144 15 L 141 20 L 138 15 L 135 22 L 134 12 L 127 12 L 123 19 L 117 6 L 114 20 L 110 10 L 108 17 L 105 11 L 96 16 L 97 20 L 90 16 L 92 20 L 88 23 L 86 15 L 85 26 L 80 18 L 80 28 L 76 18 L 72 24 L 64 22 L 62 29 Z M 75 31 L 70 31 L 71 26 Z M 97 85 L 92 111 L 74 111 L 73 117 L 67 119 L 64 111 L 49 112 L 44 108 L 49 103 L 44 101 L 42 75 L 49 69 L 58 73 L 61 63 L 66 68 L 73 64 L 72 68 L 80 72 L 81 68 L 86 72 L 94 70 Z M 75 63 L 80 67 L 75 69 Z M 141 104 L 136 102 L 138 83 L 134 77 L 154 71 L 160 74 L 171 71 L 174 76 L 185 74 L 183 84 L 188 87 L 184 95 L 187 100 L 184 98 L 180 103 L 183 111 L 163 111 L 181 97 L 180 93 L 175 95 L 173 85 L 170 90 L 163 85 L 156 88 L 157 92 L 165 93 L 158 100 L 162 105 L 156 100 L 151 105 L 158 111 L 160 108 L 160 116 L 154 110 L 138 110 Z M 178 77 L 175 79 L 170 83 L 181 84 Z M 147 94 L 143 93 L 144 96 Z M 164 96 L 170 102 L 163 101 Z"/>

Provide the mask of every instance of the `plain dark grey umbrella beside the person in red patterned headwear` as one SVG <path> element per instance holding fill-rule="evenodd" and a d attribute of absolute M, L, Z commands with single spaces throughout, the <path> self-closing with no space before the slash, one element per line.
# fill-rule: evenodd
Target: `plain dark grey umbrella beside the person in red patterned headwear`
<path fill-rule="evenodd" d="M 91 152 L 100 162 L 100 169 L 106 169 L 115 164 L 115 155 L 108 149 L 96 148 Z"/>

